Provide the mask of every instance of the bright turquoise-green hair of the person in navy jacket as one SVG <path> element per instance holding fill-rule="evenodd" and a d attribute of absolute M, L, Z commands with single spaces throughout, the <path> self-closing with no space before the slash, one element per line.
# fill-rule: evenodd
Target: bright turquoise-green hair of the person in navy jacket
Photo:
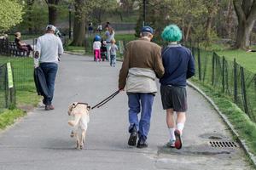
<path fill-rule="evenodd" d="M 176 25 L 166 26 L 165 30 L 162 32 L 161 37 L 166 42 L 179 42 L 182 37 L 182 31 Z"/>

